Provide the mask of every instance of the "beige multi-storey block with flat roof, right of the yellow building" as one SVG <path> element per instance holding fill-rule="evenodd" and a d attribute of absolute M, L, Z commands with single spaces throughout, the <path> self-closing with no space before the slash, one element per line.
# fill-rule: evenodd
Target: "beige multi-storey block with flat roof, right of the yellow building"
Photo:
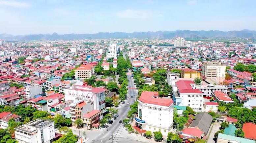
<path fill-rule="evenodd" d="M 225 80 L 226 65 L 221 63 L 204 63 L 202 66 L 202 78 L 213 79 L 218 82 Z"/>

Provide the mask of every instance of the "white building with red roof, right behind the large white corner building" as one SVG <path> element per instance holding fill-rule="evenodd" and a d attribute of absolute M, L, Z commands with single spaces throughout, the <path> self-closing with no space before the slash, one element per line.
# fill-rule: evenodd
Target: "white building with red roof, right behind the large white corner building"
<path fill-rule="evenodd" d="M 195 112 L 202 112 L 203 92 L 195 89 L 195 83 L 191 80 L 179 80 L 175 83 L 176 86 L 172 86 L 175 105 L 189 106 Z"/>

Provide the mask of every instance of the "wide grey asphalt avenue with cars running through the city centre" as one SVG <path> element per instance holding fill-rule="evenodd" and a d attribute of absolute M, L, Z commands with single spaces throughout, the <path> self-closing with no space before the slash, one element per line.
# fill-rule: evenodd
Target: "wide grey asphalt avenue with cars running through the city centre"
<path fill-rule="evenodd" d="M 92 140 L 95 140 L 95 143 L 111 143 L 112 142 L 112 136 L 113 136 L 113 142 L 134 142 L 132 139 L 127 139 L 123 137 L 119 137 L 122 132 L 125 131 L 123 124 L 120 124 L 119 121 L 126 118 L 128 111 L 130 110 L 130 104 L 133 104 L 136 101 L 136 98 L 138 96 L 138 91 L 136 90 L 136 86 L 134 85 L 134 80 L 131 77 L 132 73 L 128 72 L 128 97 L 125 100 L 124 104 L 121 104 L 121 108 L 118 109 L 118 115 L 116 120 L 113 120 L 114 122 L 112 124 L 108 124 L 109 127 L 107 127 L 107 130 L 104 130 L 104 133 L 101 135 L 98 135 L 95 138 L 91 138 L 91 143 L 93 143 Z M 133 98 L 131 98 L 133 96 Z M 127 104 L 129 102 L 129 104 Z M 136 141 L 138 142 L 138 141 Z"/>

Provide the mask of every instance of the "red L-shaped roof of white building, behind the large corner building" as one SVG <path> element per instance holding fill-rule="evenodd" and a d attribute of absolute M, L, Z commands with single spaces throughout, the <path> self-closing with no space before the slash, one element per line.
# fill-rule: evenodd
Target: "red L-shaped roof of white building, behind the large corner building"
<path fill-rule="evenodd" d="M 192 80 L 176 81 L 176 85 L 180 93 L 203 93 L 199 89 L 193 89 L 190 84 L 195 83 Z"/>

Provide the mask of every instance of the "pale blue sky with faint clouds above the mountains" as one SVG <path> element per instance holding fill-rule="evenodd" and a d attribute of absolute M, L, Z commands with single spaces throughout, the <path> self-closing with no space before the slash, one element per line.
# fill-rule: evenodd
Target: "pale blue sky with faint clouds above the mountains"
<path fill-rule="evenodd" d="M 256 30 L 256 0 L 0 0 L 0 33 Z"/>

